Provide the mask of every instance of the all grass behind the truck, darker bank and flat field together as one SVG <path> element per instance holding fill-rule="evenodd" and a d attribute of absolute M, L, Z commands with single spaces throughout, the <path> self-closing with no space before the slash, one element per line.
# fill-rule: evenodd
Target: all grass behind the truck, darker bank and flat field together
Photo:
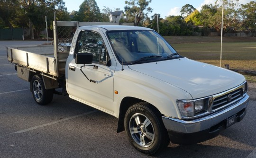
<path fill-rule="evenodd" d="M 165 39 L 187 58 L 220 66 L 220 37 L 165 36 Z M 221 67 L 224 64 L 229 64 L 230 69 L 256 71 L 256 37 L 223 38 Z M 256 77 L 248 80 L 256 82 Z"/>

